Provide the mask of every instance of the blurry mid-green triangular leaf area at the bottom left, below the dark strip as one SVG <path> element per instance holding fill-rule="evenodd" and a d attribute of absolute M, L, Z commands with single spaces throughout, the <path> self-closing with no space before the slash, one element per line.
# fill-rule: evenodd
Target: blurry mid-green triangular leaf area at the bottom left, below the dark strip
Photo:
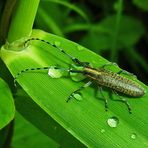
<path fill-rule="evenodd" d="M 14 137 L 11 145 L 13 148 L 59 147 L 58 144 L 24 120 L 18 113 L 16 114 Z"/>

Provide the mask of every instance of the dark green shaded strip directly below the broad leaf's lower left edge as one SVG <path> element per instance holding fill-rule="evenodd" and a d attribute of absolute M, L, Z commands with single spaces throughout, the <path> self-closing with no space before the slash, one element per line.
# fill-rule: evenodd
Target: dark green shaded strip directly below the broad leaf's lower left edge
<path fill-rule="evenodd" d="M 17 111 L 49 138 L 63 147 L 84 147 L 61 125 L 53 120 L 46 111 L 38 106 L 24 91 L 18 90 L 15 98 Z"/>

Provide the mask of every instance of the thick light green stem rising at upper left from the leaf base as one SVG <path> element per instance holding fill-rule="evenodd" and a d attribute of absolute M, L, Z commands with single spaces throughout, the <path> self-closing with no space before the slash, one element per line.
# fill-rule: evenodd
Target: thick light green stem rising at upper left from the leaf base
<path fill-rule="evenodd" d="M 40 0 L 19 0 L 12 17 L 8 33 L 8 42 L 29 36 Z"/>

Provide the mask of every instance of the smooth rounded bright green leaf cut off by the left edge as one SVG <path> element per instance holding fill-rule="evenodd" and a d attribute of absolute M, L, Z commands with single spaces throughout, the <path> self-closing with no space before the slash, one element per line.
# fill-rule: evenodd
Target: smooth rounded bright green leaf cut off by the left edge
<path fill-rule="evenodd" d="M 15 114 L 14 102 L 8 85 L 0 78 L 0 129 L 6 126 Z"/>

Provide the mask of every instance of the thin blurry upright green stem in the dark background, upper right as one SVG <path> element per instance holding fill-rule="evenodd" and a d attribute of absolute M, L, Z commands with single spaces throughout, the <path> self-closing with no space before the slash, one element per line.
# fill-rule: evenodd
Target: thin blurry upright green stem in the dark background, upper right
<path fill-rule="evenodd" d="M 110 60 L 112 62 L 117 62 L 117 39 L 118 39 L 120 20 L 122 15 L 122 7 L 123 7 L 123 0 L 118 0 L 118 11 L 117 11 L 117 19 L 115 22 L 115 33 L 113 36 L 113 43 L 112 43 L 111 56 L 110 56 Z"/>

